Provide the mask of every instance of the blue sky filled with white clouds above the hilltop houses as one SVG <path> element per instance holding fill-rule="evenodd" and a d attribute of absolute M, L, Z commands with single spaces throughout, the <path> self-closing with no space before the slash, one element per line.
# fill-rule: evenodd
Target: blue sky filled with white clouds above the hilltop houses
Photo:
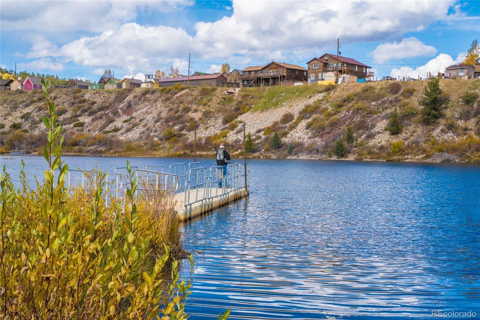
<path fill-rule="evenodd" d="M 334 53 L 375 76 L 425 77 L 480 40 L 480 1 L 0 1 L 2 68 L 97 81 Z"/>

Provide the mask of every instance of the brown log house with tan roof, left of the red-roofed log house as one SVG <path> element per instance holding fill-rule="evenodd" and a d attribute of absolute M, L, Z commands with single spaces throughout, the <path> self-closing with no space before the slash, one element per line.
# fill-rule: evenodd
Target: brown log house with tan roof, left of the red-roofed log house
<path fill-rule="evenodd" d="M 270 62 L 267 65 L 250 66 L 240 74 L 240 86 L 278 86 L 280 84 L 306 82 L 307 69 L 296 64 Z"/>

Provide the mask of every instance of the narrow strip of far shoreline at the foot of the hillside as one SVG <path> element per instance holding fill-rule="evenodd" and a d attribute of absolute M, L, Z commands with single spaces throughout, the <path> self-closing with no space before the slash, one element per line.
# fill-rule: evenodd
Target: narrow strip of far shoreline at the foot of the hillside
<path fill-rule="evenodd" d="M 13 151 L 14 153 L 2 153 L 0 154 L 1 159 L 5 159 L 4 157 L 8 156 L 36 156 L 41 157 L 42 155 L 39 153 L 22 153 L 23 151 Z M 66 152 L 62 153 L 63 156 L 71 156 L 71 157 L 107 157 L 107 158 L 193 158 L 193 155 L 189 156 L 177 156 L 177 155 L 119 155 L 119 154 L 85 154 L 85 153 L 74 153 L 74 152 Z M 243 156 L 236 156 L 236 154 L 232 154 L 232 157 L 242 158 Z M 211 155 L 199 154 L 197 158 L 200 159 L 210 159 L 212 158 Z M 403 162 L 403 163 L 449 163 L 449 164 L 480 164 L 480 162 L 468 162 L 468 161 L 437 161 L 437 160 L 416 160 L 416 159 L 368 159 L 368 158 L 355 158 L 355 157 L 346 157 L 346 158 L 316 158 L 313 156 L 300 156 L 300 157 L 287 157 L 287 158 L 276 158 L 270 155 L 267 156 L 250 156 L 247 159 L 261 159 L 261 160 L 319 160 L 319 161 L 352 161 L 352 162 Z"/>

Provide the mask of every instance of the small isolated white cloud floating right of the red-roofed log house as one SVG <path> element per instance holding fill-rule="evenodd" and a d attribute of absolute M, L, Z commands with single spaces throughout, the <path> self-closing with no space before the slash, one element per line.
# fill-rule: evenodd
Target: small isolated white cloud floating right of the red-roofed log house
<path fill-rule="evenodd" d="M 371 52 L 375 60 L 382 62 L 387 59 L 403 59 L 419 56 L 432 56 L 437 52 L 432 46 L 427 46 L 416 37 L 404 38 L 401 42 L 386 42 L 378 45 Z"/>

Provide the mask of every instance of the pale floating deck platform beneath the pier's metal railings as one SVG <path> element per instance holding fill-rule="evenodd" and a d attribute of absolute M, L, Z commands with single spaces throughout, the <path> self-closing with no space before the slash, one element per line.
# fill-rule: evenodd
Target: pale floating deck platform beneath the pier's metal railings
<path fill-rule="evenodd" d="M 203 195 L 204 193 L 206 193 L 206 191 L 207 190 L 205 190 L 205 188 L 190 190 L 190 198 L 194 199 L 197 195 L 197 192 L 198 194 Z M 238 199 L 248 197 L 248 189 L 245 189 L 245 187 L 241 187 L 238 189 L 225 188 L 225 190 L 222 190 L 222 188 L 213 188 L 210 189 L 210 191 L 213 191 L 212 197 L 195 202 L 191 205 L 190 208 L 189 206 L 185 206 L 185 198 L 188 198 L 188 195 L 186 195 L 185 192 L 176 194 L 175 209 L 177 210 L 179 219 L 181 221 L 186 221 L 198 217 L 213 209 L 225 206 L 230 202 L 234 202 Z M 222 191 L 226 191 L 227 193 L 223 194 Z"/>

